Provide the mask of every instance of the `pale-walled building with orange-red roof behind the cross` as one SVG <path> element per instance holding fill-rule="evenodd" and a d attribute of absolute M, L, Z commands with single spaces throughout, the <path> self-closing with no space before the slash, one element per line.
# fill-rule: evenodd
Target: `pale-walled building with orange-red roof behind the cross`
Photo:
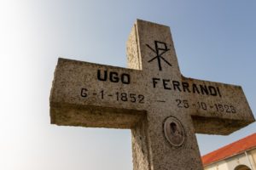
<path fill-rule="evenodd" d="M 256 133 L 201 158 L 205 170 L 256 170 Z"/>

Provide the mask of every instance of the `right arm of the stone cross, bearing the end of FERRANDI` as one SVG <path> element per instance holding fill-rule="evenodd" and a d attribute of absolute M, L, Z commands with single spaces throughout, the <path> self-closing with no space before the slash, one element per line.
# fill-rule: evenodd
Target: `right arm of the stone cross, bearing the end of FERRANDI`
<path fill-rule="evenodd" d="M 177 103 L 189 107 L 196 133 L 229 134 L 255 121 L 240 86 L 186 77 L 175 83 L 185 94 Z"/>

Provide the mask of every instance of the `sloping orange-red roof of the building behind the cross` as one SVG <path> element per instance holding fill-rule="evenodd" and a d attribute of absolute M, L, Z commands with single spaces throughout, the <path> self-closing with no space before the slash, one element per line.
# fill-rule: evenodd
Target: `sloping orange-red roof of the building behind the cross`
<path fill-rule="evenodd" d="M 253 147 L 256 147 L 256 133 L 253 133 L 244 139 L 237 140 L 232 144 L 225 145 L 218 150 L 214 150 L 211 153 L 202 156 L 201 160 L 203 165 L 206 166 L 214 161 L 223 160 L 224 158 L 234 156 L 244 150 L 252 149 Z"/>

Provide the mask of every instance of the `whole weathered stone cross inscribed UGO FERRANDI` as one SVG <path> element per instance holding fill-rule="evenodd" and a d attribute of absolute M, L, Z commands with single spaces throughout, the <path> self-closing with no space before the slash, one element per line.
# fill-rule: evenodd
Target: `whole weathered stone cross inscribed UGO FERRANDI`
<path fill-rule="evenodd" d="M 131 129 L 134 170 L 199 170 L 195 133 L 254 122 L 240 86 L 182 76 L 168 26 L 137 20 L 127 55 L 129 69 L 59 59 L 51 123 Z"/>

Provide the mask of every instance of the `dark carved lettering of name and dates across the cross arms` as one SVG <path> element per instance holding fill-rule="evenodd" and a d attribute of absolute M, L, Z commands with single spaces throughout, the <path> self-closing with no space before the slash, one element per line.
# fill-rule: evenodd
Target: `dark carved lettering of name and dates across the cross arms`
<path fill-rule="evenodd" d="M 129 85 L 131 83 L 131 75 L 125 72 L 119 73 L 116 71 L 108 71 L 98 69 L 96 71 L 96 80 L 100 82 L 114 82 Z M 153 88 L 162 88 L 164 90 L 176 91 L 180 93 L 193 93 L 200 95 L 211 95 L 222 97 L 218 87 L 209 86 L 205 84 L 195 84 L 189 82 L 179 82 L 171 79 L 152 78 Z M 134 92 L 116 91 L 108 94 L 105 89 L 88 89 L 81 88 L 80 96 L 84 99 L 90 97 L 97 97 L 98 99 L 113 99 L 119 102 L 131 102 L 137 104 L 145 103 L 145 95 Z M 156 102 L 165 103 L 165 100 L 156 99 Z M 174 101 L 178 108 L 189 109 L 195 108 L 201 111 L 214 111 L 220 114 L 235 114 L 236 107 L 234 105 L 225 103 L 207 103 L 205 101 L 189 101 L 188 99 L 175 99 Z"/>

